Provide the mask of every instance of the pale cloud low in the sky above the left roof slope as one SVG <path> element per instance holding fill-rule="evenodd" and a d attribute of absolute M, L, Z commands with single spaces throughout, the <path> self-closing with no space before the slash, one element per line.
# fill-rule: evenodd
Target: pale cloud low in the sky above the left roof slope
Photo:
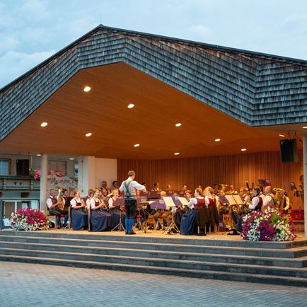
<path fill-rule="evenodd" d="M 54 53 L 54 50 L 32 54 L 16 51 L 6 52 L 4 56 L 0 57 L 0 88 L 25 74 L 26 71 L 33 69 L 34 66 Z"/>

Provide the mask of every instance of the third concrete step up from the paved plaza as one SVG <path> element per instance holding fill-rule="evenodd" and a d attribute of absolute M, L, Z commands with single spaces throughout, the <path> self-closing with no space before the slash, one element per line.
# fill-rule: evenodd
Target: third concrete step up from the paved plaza
<path fill-rule="evenodd" d="M 307 256 L 296 259 L 278 257 L 255 257 L 247 255 L 219 255 L 210 253 L 189 253 L 166 250 L 139 250 L 134 248 L 92 247 L 81 245 L 0 242 L 0 248 L 22 250 L 61 251 L 68 253 L 86 253 L 98 255 L 118 255 L 126 257 L 152 257 L 170 260 L 195 260 L 202 262 L 236 263 L 243 265 L 263 265 L 268 267 L 307 267 Z"/>

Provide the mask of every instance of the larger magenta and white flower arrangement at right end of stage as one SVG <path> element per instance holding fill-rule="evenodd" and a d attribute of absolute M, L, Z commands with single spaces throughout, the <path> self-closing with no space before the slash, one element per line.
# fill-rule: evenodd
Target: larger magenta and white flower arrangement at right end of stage
<path fill-rule="evenodd" d="M 242 237 L 250 241 L 293 241 L 296 235 L 293 220 L 270 206 L 243 217 Z"/>

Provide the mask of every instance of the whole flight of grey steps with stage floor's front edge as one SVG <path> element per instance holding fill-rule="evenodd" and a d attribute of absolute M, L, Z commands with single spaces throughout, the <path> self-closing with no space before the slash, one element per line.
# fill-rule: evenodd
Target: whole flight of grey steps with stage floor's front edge
<path fill-rule="evenodd" d="M 162 231 L 0 231 L 0 259 L 183 277 L 307 286 L 307 239 L 251 242 Z"/>

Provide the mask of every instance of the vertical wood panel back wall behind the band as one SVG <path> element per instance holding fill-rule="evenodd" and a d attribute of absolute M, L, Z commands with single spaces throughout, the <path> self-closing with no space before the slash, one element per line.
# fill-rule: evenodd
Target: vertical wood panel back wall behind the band
<path fill-rule="evenodd" d="M 279 151 L 231 156 L 212 156 L 199 158 L 178 158 L 169 160 L 117 160 L 117 180 L 127 178 L 128 170 L 137 173 L 139 183 L 146 182 L 153 187 L 157 181 L 161 188 L 170 184 L 180 189 L 187 183 L 190 189 L 197 185 L 203 187 L 214 183 L 233 184 L 236 189 L 245 186 L 245 181 L 255 184 L 257 179 L 270 179 L 273 187 L 288 190 L 288 182 L 299 185 L 303 173 L 302 153 L 299 163 L 282 163 Z M 301 200 L 289 192 L 291 202 L 301 206 Z"/>

